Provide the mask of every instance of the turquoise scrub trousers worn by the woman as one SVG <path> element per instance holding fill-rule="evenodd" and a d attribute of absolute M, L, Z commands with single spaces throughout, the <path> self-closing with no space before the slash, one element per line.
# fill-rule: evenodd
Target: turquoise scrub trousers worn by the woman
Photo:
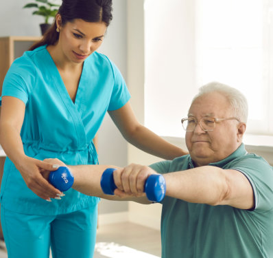
<path fill-rule="evenodd" d="M 9 258 L 92 258 L 97 206 L 73 213 L 40 216 L 1 206 L 1 225 Z"/>

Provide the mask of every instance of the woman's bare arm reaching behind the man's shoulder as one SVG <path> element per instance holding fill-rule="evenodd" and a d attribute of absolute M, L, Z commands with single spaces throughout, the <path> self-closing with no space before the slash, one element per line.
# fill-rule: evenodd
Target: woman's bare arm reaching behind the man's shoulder
<path fill-rule="evenodd" d="M 187 151 L 170 144 L 141 125 L 129 102 L 120 109 L 108 111 L 108 114 L 123 137 L 135 147 L 165 160 L 173 160 L 187 154 Z"/>

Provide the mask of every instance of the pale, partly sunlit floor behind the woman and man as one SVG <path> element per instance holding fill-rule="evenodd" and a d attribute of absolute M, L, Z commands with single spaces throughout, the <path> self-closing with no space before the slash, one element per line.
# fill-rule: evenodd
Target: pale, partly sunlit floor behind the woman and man
<path fill-rule="evenodd" d="M 0 248 L 0 258 L 7 258 Z M 99 226 L 93 258 L 159 258 L 161 235 L 159 230 L 130 222 Z"/>

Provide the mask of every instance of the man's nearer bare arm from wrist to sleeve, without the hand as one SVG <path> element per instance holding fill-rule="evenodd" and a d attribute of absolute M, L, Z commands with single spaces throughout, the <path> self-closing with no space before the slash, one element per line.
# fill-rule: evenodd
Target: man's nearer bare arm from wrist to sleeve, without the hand
<path fill-rule="evenodd" d="M 166 194 L 171 197 L 209 205 L 229 205 L 250 209 L 254 193 L 246 176 L 233 169 L 200 166 L 164 175 Z"/>

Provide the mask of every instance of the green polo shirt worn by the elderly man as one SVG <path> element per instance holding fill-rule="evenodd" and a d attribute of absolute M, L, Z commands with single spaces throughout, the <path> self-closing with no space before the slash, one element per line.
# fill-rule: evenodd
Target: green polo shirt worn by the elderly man
<path fill-rule="evenodd" d="M 210 166 L 244 173 L 254 191 L 255 206 L 242 210 L 227 205 L 194 204 L 166 196 L 161 215 L 163 258 L 272 258 L 273 173 L 263 158 L 244 144 Z M 194 167 L 189 155 L 152 164 L 158 173 Z"/>

